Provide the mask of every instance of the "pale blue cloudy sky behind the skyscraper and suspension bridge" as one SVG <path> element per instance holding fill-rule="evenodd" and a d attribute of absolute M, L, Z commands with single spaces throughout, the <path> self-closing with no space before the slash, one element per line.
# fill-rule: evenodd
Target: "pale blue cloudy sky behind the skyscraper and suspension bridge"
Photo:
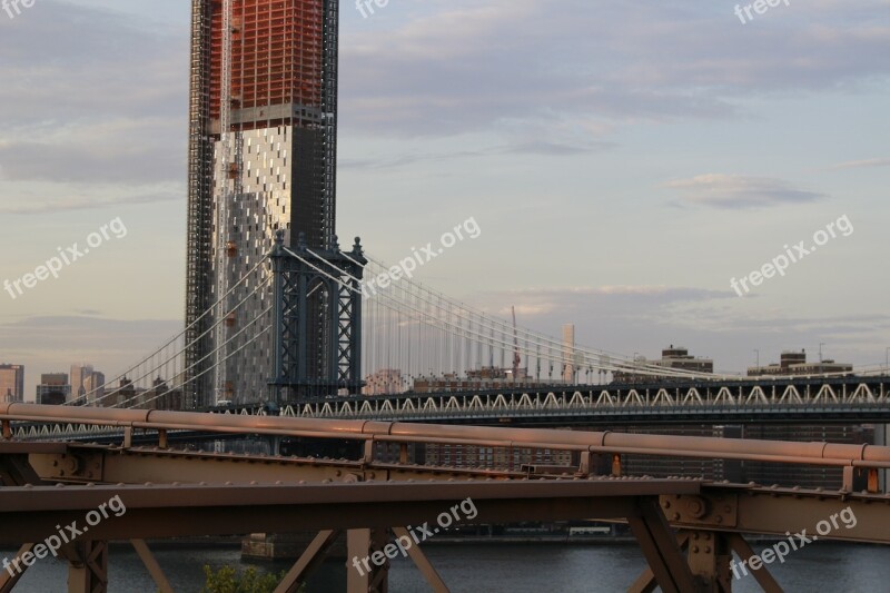
<path fill-rule="evenodd" d="M 523 326 L 725 372 L 884 364 L 890 1 L 380 3 L 340 7 L 342 244 L 396 261 L 472 217 L 418 277 Z M 32 399 L 182 327 L 189 2 L 10 13 L 0 363 Z"/>

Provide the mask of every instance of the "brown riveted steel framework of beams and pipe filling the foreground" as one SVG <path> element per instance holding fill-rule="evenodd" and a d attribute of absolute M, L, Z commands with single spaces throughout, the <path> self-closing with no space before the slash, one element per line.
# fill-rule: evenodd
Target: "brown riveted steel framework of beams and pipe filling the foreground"
<path fill-rule="evenodd" d="M 118 426 L 125 439 L 118 445 L 85 445 L 12 438 L 13 422 L 60 421 Z M 387 559 L 399 553 L 396 542 L 411 541 L 405 525 L 435 525 L 433 521 L 442 525 L 443 514 L 467 501 L 477 513 L 457 516 L 456 523 L 626 522 L 649 563 L 631 585 L 634 592 L 655 586 L 665 592 L 731 591 L 732 555 L 754 555 L 744 534 L 780 538 L 787 533 L 819 534 L 820 541 L 890 543 L 890 496 L 880 491 L 878 480 L 878 471 L 890 467 L 890 447 L 882 446 L 28 404 L 0 404 L 0 543 L 21 544 L 13 565 L 27 569 L 41 552 L 46 555 L 46 546 L 41 550 L 36 542 L 48 543 L 47 534 L 56 533 L 53 525 L 86 517 L 89 535 L 83 528 L 59 550 L 69 561 L 72 592 L 107 590 L 109 540 L 129 538 L 158 589 L 167 593 L 172 589 L 146 537 L 310 528 L 318 534 L 278 592 L 297 591 L 332 543 L 345 536 L 347 557 L 379 561 L 369 572 L 347 564 L 348 593 L 383 593 Z M 131 446 L 137 431 L 155 435 L 155 446 Z M 356 459 L 335 461 L 177 451 L 167 442 L 170 431 L 345 438 L 364 444 L 359 447 L 364 453 Z M 380 442 L 397 447 L 398 461 L 376 458 L 375 443 Z M 525 466 L 521 472 L 411 463 L 411 444 L 432 443 L 567 451 L 576 463 Z M 622 475 L 621 457 L 630 453 L 844 471 L 837 491 L 653 480 Z M 611 476 L 595 475 L 596 455 L 612 459 Z M 852 487 L 857 472 L 868 477 L 861 492 Z M 113 496 L 126 504 L 126 514 L 90 521 Z M 850 514 L 856 521 L 843 518 Z M 83 526 L 83 520 L 80 523 Z M 447 592 L 422 547 L 412 545 L 405 553 L 434 591 Z M 764 564 L 749 570 L 764 591 L 782 591 Z M 20 576 L 11 570 L 0 573 L 0 592 L 10 591 Z"/>

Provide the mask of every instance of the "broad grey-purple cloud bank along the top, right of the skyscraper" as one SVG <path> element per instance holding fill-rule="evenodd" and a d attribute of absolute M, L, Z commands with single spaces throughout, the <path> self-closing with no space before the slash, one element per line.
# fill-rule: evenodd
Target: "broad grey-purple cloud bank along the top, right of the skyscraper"
<path fill-rule="evenodd" d="M 749 98 L 856 91 L 890 73 L 890 27 L 877 24 L 886 4 L 873 0 L 808 3 L 756 27 L 720 4 L 404 6 L 343 34 L 344 130 L 425 137 L 585 118 L 725 119 Z"/>

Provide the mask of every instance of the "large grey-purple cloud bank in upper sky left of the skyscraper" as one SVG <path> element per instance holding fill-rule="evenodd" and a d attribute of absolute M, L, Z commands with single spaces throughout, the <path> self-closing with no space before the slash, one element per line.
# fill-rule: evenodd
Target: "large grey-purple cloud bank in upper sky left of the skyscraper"
<path fill-rule="evenodd" d="M 188 22 L 41 0 L 2 26 L 0 53 L 0 213 L 166 200 L 185 185 Z"/>

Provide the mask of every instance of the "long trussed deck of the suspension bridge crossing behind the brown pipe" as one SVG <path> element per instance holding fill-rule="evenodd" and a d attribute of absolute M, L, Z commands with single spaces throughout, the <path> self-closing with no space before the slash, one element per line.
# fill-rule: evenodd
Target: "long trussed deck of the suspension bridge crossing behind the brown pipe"
<path fill-rule="evenodd" d="M 206 412 L 295 418 L 377 419 L 514 426 L 890 423 L 887 376 L 634 385 L 543 386 L 435 394 L 319 397 L 283 407 L 233 405 Z M 119 428 L 19 423 L 17 438 L 108 442 Z M 170 433 L 180 441 L 208 433 Z"/>

